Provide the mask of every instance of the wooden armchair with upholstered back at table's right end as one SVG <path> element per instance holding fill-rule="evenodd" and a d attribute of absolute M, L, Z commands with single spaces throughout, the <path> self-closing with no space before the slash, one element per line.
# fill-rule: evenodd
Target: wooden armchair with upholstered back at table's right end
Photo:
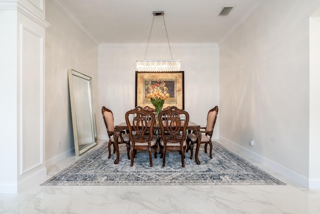
<path fill-rule="evenodd" d="M 209 151 L 209 156 L 212 158 L 212 142 L 211 142 L 211 137 L 213 134 L 213 129 L 216 121 L 216 117 L 218 115 L 218 107 L 215 106 L 214 108 L 210 109 L 207 114 L 206 118 L 206 126 L 205 127 L 200 127 L 200 132 L 201 132 L 201 142 L 200 144 L 204 143 L 204 152 L 207 153 L 207 145 L 209 144 L 210 146 L 210 151 Z M 192 159 L 193 155 L 193 146 L 194 143 L 197 143 L 197 137 L 195 136 L 194 133 L 189 133 L 186 138 L 186 144 L 187 148 L 185 152 L 188 152 L 188 149 L 190 149 L 190 159 Z"/>

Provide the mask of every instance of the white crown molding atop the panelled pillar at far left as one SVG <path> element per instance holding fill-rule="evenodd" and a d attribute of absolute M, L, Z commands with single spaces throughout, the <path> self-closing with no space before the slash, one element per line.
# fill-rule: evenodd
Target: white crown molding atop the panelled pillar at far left
<path fill-rule="evenodd" d="M 47 23 L 45 20 L 43 20 L 41 17 L 33 13 L 31 10 L 29 10 L 27 7 L 22 5 L 19 2 L 16 1 L 1 1 L 0 2 L 0 10 L 14 10 L 18 11 L 42 28 L 47 28 L 50 26 L 49 23 Z"/>

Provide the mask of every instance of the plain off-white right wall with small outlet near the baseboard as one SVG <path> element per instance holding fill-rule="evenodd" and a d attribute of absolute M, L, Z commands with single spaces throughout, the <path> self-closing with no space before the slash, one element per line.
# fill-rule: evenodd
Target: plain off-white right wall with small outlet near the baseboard
<path fill-rule="evenodd" d="M 219 44 L 220 137 L 304 178 L 309 176 L 309 16 L 319 5 L 268 1 Z"/>

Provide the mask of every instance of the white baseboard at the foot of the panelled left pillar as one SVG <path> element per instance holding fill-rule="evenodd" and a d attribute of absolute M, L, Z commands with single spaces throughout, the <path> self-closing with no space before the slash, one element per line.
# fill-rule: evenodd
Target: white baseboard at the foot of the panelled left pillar
<path fill-rule="evenodd" d="M 44 167 L 19 182 L 0 183 L 0 193 L 18 193 L 34 185 L 38 185 L 45 176 L 46 168 Z"/>

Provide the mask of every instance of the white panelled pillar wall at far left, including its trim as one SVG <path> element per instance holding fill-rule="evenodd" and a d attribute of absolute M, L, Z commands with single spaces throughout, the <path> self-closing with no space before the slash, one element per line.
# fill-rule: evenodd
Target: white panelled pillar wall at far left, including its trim
<path fill-rule="evenodd" d="M 1 84 L 0 171 L 4 173 L 0 192 L 15 193 L 46 174 L 43 53 L 48 24 L 42 5 L 0 1 L 0 70 L 5 80 Z"/>

